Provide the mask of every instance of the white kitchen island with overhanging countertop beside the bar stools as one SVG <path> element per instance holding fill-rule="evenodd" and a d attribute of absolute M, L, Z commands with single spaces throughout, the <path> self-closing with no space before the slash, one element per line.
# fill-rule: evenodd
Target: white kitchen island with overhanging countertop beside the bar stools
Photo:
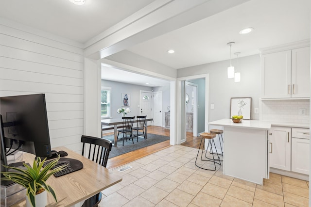
<path fill-rule="evenodd" d="M 208 124 L 224 127 L 224 175 L 262 185 L 263 178 L 269 178 L 268 138 L 271 124 L 259 120 L 243 120 L 235 124 L 231 119 Z"/>

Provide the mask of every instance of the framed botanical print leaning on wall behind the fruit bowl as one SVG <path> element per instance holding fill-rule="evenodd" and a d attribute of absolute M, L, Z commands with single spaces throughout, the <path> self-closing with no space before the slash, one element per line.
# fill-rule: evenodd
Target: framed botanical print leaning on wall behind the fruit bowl
<path fill-rule="evenodd" d="M 251 97 L 231 98 L 230 118 L 233 115 L 242 115 L 243 119 L 251 119 Z"/>

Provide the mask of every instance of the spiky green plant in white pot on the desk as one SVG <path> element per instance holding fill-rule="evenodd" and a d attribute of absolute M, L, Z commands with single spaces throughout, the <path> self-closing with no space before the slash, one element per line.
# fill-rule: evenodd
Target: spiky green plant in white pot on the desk
<path fill-rule="evenodd" d="M 5 176 L 1 178 L 1 180 L 12 180 L 13 182 L 20 184 L 27 189 L 26 204 L 31 204 L 31 206 L 33 207 L 43 207 L 47 205 L 47 192 L 50 192 L 52 194 L 57 203 L 55 192 L 52 187 L 46 183 L 46 181 L 51 175 L 67 167 L 67 165 L 62 165 L 53 169 L 53 167 L 57 165 L 57 162 L 59 160 L 58 157 L 57 159 L 52 160 L 44 168 L 42 168 L 45 160 L 46 158 L 41 160 L 39 157 L 37 159 L 34 159 L 33 167 L 25 163 L 23 164 L 24 168 L 4 166 L 12 170 L 9 172 L 1 172 Z M 41 193 L 43 194 L 40 195 Z M 45 204 L 38 203 L 38 195 L 44 197 L 43 202 L 45 202 Z"/>

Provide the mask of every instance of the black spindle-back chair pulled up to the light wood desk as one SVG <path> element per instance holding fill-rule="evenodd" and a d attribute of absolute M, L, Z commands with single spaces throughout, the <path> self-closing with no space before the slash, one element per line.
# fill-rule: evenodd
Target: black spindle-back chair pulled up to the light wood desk
<path fill-rule="evenodd" d="M 109 157 L 109 152 L 112 148 L 112 142 L 110 140 L 98 137 L 91 137 L 82 135 L 81 142 L 83 143 L 82 155 L 86 149 L 86 156 L 88 159 L 106 167 Z M 88 147 L 88 149 L 87 149 Z M 82 207 L 97 207 L 102 200 L 102 193 L 99 192 L 96 195 L 88 198 L 82 205 Z"/>

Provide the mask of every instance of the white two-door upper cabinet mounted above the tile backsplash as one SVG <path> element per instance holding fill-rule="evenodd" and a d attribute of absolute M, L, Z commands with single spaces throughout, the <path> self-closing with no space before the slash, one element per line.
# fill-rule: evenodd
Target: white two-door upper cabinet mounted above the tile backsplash
<path fill-rule="evenodd" d="M 310 97 L 310 47 L 261 55 L 261 98 Z"/>

